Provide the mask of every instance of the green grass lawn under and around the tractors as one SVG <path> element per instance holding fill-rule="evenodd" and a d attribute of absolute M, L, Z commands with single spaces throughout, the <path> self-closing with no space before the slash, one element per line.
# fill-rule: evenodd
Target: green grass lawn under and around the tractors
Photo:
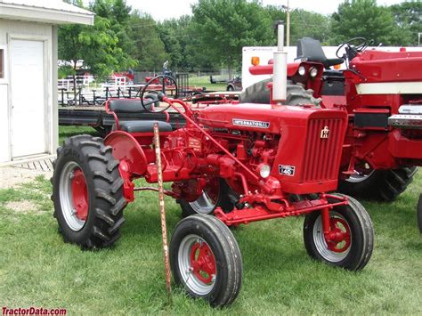
<path fill-rule="evenodd" d="M 90 129 L 61 128 L 61 136 Z M 137 193 L 115 247 L 89 252 L 63 243 L 51 184 L 38 177 L 0 190 L 0 305 L 66 308 L 69 314 L 422 313 L 422 238 L 416 223 L 422 172 L 392 204 L 362 201 L 375 228 L 367 267 L 343 271 L 312 261 L 303 217 L 233 230 L 243 255 L 243 286 L 230 307 L 213 310 L 174 288 L 167 303 L 158 199 Z M 13 205 L 29 202 L 29 209 Z M 171 235 L 180 209 L 166 199 Z"/>

